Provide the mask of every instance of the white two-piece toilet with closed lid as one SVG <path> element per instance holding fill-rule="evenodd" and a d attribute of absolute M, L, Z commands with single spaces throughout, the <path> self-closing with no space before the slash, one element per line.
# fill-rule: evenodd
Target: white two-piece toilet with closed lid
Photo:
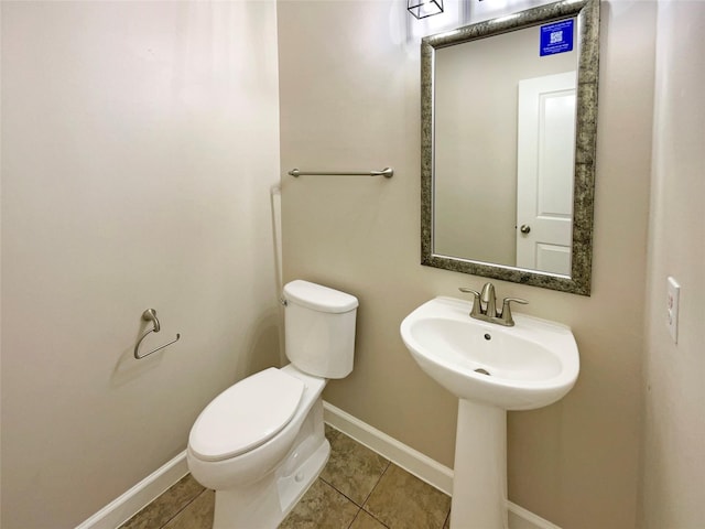
<path fill-rule="evenodd" d="M 330 454 L 321 393 L 352 370 L 358 301 L 296 280 L 282 303 L 291 364 L 223 391 L 188 435 L 188 468 L 216 492 L 214 529 L 274 529 Z"/>

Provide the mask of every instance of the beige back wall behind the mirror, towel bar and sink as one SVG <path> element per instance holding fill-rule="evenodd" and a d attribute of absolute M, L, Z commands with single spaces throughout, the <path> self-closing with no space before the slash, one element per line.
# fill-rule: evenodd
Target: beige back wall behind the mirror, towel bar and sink
<path fill-rule="evenodd" d="M 285 279 L 360 299 L 354 373 L 325 398 L 452 466 L 456 401 L 414 364 L 401 320 L 484 279 L 419 264 L 419 52 L 403 2 L 280 2 Z M 561 402 L 510 413 L 510 498 L 566 529 L 634 527 L 655 4 L 604 2 L 593 295 L 496 282 L 573 327 L 582 373 Z"/>

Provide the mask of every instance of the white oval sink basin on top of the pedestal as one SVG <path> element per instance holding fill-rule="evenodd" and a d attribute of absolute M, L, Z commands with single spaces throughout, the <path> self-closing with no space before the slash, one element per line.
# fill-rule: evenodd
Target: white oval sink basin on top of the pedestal
<path fill-rule="evenodd" d="M 549 406 L 567 393 L 579 371 L 571 328 L 513 314 L 514 326 L 469 316 L 473 303 L 436 298 L 401 324 L 401 337 L 421 368 L 460 399 L 505 410 Z"/>

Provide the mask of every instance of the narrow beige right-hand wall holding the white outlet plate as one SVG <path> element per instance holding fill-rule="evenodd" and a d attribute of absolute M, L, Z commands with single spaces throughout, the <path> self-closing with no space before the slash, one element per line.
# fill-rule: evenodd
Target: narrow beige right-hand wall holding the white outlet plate
<path fill-rule="evenodd" d="M 705 3 L 659 3 L 639 527 L 705 520 Z M 681 284 L 679 342 L 666 278 Z"/>

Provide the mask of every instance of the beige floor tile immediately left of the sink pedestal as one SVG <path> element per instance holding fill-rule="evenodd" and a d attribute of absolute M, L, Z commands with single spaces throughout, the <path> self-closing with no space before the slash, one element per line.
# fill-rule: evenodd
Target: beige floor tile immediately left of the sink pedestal
<path fill-rule="evenodd" d="M 451 497 L 390 464 L 365 510 L 391 529 L 442 529 Z"/>

